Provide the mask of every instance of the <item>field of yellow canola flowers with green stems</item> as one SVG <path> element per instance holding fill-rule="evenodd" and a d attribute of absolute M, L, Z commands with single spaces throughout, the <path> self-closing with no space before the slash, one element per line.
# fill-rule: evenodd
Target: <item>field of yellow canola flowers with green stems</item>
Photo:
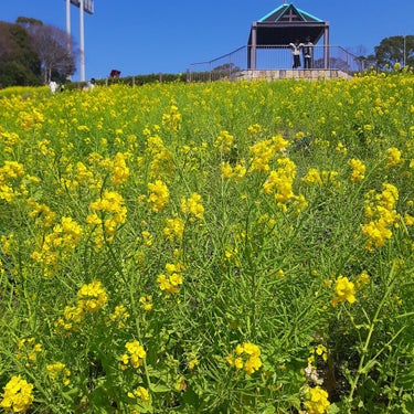
<path fill-rule="evenodd" d="M 413 413 L 414 75 L 0 91 L 1 413 Z"/>

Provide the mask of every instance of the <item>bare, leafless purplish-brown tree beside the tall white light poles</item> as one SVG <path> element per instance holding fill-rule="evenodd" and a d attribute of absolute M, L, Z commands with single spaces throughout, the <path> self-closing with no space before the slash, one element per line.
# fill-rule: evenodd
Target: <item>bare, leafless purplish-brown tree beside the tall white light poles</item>
<path fill-rule="evenodd" d="M 64 81 L 75 73 L 75 42 L 65 31 L 35 19 L 20 17 L 17 21 L 26 28 L 31 36 L 33 49 L 41 61 L 45 84 L 52 77 Z"/>

